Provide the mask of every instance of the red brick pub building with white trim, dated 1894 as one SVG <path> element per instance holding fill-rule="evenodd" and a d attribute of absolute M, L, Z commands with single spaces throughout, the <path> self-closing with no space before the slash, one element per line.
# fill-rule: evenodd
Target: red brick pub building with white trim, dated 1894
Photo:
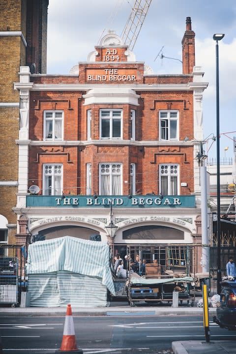
<path fill-rule="evenodd" d="M 68 75 L 21 67 L 16 237 L 100 235 L 122 255 L 145 245 L 141 256 L 163 265 L 168 245 L 179 245 L 178 264 L 201 244 L 207 83 L 194 38 L 188 17 L 177 75 L 153 74 L 113 32 Z"/>

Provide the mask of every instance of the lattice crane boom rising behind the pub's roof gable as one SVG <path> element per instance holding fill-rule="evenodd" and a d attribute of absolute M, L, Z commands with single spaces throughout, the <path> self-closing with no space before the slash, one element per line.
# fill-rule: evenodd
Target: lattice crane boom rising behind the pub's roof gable
<path fill-rule="evenodd" d="M 124 44 L 129 46 L 132 51 L 143 26 L 151 0 L 136 0 L 134 7 L 129 15 L 126 25 L 121 33 L 121 39 Z"/>

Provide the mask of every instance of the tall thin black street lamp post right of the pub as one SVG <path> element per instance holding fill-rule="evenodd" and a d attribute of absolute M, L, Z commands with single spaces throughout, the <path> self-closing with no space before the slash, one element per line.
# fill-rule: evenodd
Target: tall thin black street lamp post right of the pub
<path fill-rule="evenodd" d="M 224 37 L 224 34 L 214 34 L 213 39 L 216 41 L 215 59 L 216 59 L 216 164 L 217 164 L 217 294 L 220 294 L 221 281 L 221 228 L 220 228 L 220 115 L 219 115 L 219 48 L 218 41 Z"/>

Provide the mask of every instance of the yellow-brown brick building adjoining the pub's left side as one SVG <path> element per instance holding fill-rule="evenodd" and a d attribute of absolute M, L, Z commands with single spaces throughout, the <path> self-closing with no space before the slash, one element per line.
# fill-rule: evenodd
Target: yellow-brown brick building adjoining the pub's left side
<path fill-rule="evenodd" d="M 48 0 L 0 2 L 0 245 L 15 244 L 21 66 L 46 72 Z M 22 99 L 22 97 L 21 97 Z M 21 110 L 21 115 L 24 115 Z M 21 153 L 20 153 L 21 155 Z M 20 241 L 21 244 L 21 241 Z M 0 248 L 0 256 L 6 252 Z"/>

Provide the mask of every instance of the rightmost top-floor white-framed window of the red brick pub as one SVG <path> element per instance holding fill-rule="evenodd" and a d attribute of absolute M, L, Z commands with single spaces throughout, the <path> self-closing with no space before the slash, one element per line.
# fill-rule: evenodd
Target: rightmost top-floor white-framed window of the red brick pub
<path fill-rule="evenodd" d="M 160 140 L 178 139 L 178 111 L 159 112 Z"/>

